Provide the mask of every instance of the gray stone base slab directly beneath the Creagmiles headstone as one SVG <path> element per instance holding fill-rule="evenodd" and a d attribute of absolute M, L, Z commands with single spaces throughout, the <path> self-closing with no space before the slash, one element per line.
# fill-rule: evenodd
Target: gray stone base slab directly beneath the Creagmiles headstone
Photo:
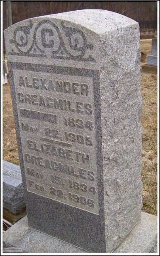
<path fill-rule="evenodd" d="M 141 212 L 140 222 L 113 253 L 150 253 L 157 243 L 157 216 Z M 87 253 L 72 244 L 28 227 L 27 216 L 3 233 L 3 246 L 28 253 Z"/>

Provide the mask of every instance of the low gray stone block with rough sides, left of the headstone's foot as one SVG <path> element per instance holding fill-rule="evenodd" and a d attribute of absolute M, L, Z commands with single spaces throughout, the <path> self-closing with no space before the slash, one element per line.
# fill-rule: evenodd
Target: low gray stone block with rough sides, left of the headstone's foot
<path fill-rule="evenodd" d="M 3 208 L 18 214 L 25 209 L 20 166 L 3 161 Z"/>

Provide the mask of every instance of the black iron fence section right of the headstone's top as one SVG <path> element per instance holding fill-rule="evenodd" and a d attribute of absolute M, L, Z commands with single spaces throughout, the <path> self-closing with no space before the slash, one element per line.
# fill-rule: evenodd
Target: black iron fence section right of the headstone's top
<path fill-rule="evenodd" d="M 157 20 L 140 21 L 140 34 L 155 34 L 157 33 Z"/>

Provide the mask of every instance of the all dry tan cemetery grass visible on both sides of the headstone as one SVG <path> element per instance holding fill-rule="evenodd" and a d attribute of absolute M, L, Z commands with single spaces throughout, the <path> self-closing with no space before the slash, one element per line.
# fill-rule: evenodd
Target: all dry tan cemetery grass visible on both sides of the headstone
<path fill-rule="evenodd" d="M 141 40 L 141 52 L 151 54 L 152 39 Z M 146 64 L 146 61 L 142 64 Z M 141 73 L 143 96 L 143 211 L 157 215 L 157 75 Z M 3 160 L 20 165 L 9 84 L 3 86 Z"/>

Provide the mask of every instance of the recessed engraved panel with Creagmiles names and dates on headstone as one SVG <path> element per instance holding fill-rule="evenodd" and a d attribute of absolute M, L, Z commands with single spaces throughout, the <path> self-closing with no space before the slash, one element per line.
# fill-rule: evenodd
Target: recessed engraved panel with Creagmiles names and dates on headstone
<path fill-rule="evenodd" d="M 99 214 L 93 77 L 13 76 L 28 191 Z"/>

